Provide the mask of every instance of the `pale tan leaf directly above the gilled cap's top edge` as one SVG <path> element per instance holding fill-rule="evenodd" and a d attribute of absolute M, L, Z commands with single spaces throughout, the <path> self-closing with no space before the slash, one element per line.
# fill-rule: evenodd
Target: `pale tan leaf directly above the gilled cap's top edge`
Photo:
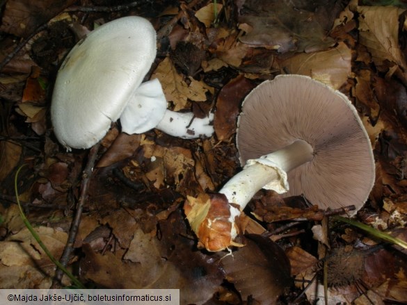
<path fill-rule="evenodd" d="M 334 89 L 341 88 L 351 75 L 351 49 L 340 42 L 328 51 L 300 53 L 280 61 L 287 74 L 311 76 Z"/>

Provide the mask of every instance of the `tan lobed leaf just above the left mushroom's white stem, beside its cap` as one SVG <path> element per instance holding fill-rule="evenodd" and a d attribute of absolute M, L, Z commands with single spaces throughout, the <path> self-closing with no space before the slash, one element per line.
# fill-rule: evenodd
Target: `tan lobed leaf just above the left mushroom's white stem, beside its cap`
<path fill-rule="evenodd" d="M 195 81 L 189 77 L 188 83 L 177 72 L 171 60 L 167 57 L 158 65 L 152 74 L 152 79 L 159 79 L 167 101 L 172 101 L 174 111 L 189 108 L 191 101 L 206 101 L 207 85 L 202 81 Z"/>

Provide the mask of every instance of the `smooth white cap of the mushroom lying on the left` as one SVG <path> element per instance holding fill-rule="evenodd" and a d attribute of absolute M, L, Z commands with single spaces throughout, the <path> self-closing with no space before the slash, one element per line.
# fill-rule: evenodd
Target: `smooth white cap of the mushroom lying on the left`
<path fill-rule="evenodd" d="M 142 17 L 99 26 L 67 54 L 51 104 L 54 133 L 62 145 L 99 142 L 126 108 L 157 53 L 156 33 Z"/>

